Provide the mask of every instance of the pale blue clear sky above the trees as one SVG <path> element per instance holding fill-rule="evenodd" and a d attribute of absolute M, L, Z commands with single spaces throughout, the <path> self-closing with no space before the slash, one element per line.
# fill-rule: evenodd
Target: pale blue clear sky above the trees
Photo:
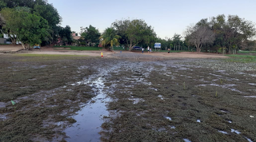
<path fill-rule="evenodd" d="M 255 0 L 48 0 L 62 17 L 61 26 L 94 26 L 101 33 L 117 20 L 142 19 L 158 37 L 184 36 L 187 26 L 218 14 L 256 23 Z"/>

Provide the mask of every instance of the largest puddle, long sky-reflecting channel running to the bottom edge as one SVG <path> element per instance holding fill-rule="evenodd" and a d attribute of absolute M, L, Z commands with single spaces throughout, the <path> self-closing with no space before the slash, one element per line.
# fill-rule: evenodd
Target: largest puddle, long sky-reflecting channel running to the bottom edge
<path fill-rule="evenodd" d="M 99 141 L 101 135 L 98 134 L 102 130 L 101 125 L 104 122 L 103 116 L 109 116 L 109 112 L 106 108 L 106 103 L 110 101 L 110 98 L 106 98 L 106 94 L 103 92 L 105 85 L 102 81 L 102 77 L 92 81 L 90 86 L 94 86 L 94 93 L 96 97 L 92 98 L 93 104 L 87 104 L 77 115 L 73 116 L 76 123 L 72 124 L 70 128 L 66 128 L 67 141 Z"/>

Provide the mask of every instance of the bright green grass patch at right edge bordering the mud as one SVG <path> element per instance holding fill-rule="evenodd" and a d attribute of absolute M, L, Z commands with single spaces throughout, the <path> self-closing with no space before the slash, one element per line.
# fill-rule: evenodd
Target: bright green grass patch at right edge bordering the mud
<path fill-rule="evenodd" d="M 226 61 L 230 62 L 243 62 L 243 63 L 249 63 L 249 62 L 256 62 L 256 56 L 253 55 L 226 55 L 230 58 L 226 59 Z"/>

